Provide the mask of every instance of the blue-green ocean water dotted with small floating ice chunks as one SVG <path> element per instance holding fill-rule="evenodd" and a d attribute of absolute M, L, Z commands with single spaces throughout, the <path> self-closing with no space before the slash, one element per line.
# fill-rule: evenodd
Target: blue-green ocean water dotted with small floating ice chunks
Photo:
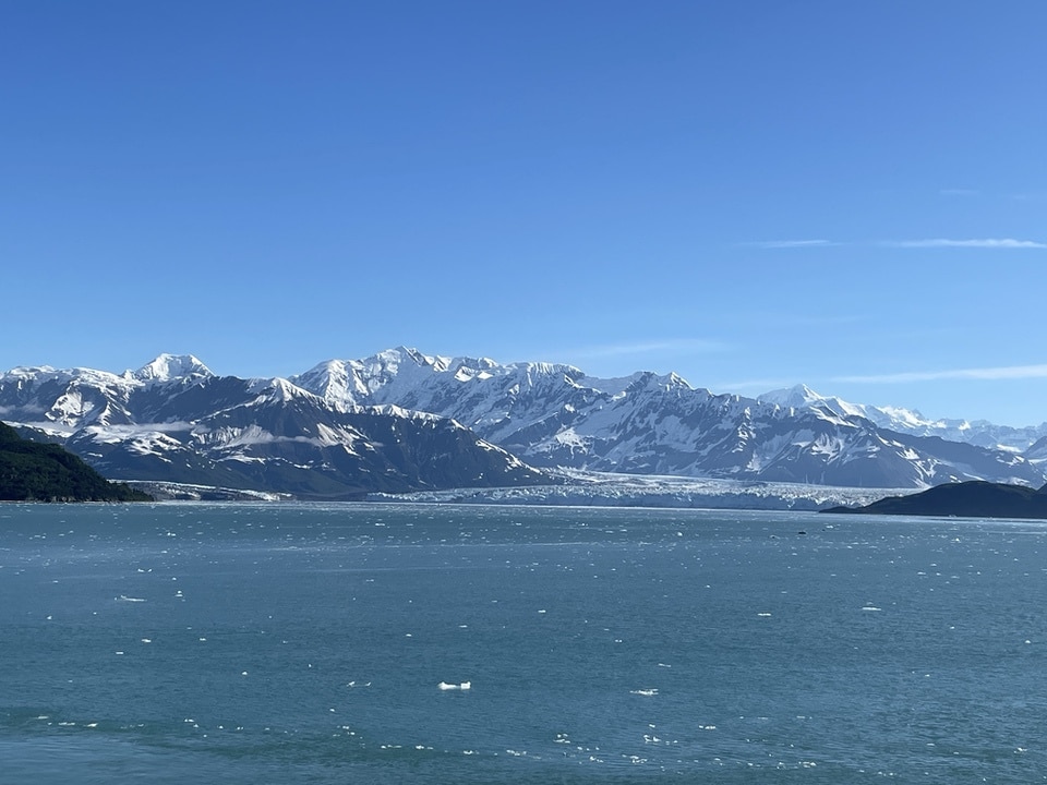
<path fill-rule="evenodd" d="M 3 505 L 0 782 L 1040 782 L 1045 536 Z"/>

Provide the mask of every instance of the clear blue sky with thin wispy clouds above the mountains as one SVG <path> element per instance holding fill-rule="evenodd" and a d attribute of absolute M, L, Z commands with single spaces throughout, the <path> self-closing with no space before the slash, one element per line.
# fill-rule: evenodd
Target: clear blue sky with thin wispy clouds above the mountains
<path fill-rule="evenodd" d="M 0 369 L 406 345 L 1047 420 L 1047 2 L 0 4 Z"/>

